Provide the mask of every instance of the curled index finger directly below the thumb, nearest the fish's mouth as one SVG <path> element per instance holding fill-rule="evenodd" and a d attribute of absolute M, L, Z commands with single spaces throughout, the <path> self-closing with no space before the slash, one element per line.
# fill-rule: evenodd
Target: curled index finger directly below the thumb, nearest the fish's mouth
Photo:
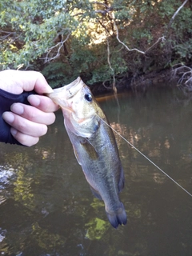
<path fill-rule="evenodd" d="M 30 102 L 30 105 L 35 106 L 44 112 L 54 112 L 59 108 L 58 105 L 46 96 L 32 94 L 28 96 L 27 100 Z"/>

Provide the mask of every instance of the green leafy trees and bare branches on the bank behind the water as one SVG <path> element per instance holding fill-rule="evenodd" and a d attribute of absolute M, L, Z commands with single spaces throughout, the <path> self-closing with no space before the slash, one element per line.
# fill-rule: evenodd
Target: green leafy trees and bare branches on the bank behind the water
<path fill-rule="evenodd" d="M 135 78 L 179 62 L 187 65 L 192 62 L 190 2 L 169 27 L 181 4 L 2 0 L 0 70 L 41 70 L 54 87 L 79 75 L 91 85 L 113 76 Z"/>

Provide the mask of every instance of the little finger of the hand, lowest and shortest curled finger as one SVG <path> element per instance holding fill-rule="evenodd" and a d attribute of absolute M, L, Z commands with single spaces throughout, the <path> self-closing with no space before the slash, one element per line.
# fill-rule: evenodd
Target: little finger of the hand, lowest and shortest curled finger
<path fill-rule="evenodd" d="M 18 142 L 20 142 L 24 146 L 34 146 L 39 141 L 38 137 L 32 137 L 27 134 L 22 134 L 18 130 L 15 130 L 14 128 L 10 129 L 10 133 Z"/>

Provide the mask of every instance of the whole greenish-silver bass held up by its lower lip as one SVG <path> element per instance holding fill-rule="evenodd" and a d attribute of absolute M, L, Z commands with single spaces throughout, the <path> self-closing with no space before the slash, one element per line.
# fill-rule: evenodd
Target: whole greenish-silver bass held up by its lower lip
<path fill-rule="evenodd" d="M 78 77 L 47 96 L 62 109 L 74 155 L 82 166 L 90 190 L 105 203 L 110 224 L 114 228 L 126 225 L 126 210 L 119 199 L 125 178 L 118 146 L 90 88 Z"/>

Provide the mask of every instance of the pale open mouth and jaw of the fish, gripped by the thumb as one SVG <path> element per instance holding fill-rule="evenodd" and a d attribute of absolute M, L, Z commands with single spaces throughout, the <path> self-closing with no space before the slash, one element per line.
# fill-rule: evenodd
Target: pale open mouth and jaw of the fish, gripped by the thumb
<path fill-rule="evenodd" d="M 71 108 L 71 104 L 67 102 L 70 98 L 73 98 L 75 94 L 78 93 L 79 90 L 82 90 L 84 86 L 84 82 L 82 79 L 78 77 L 70 84 L 63 86 L 62 88 L 54 89 L 53 93 L 46 94 L 49 98 L 52 99 L 53 102 L 61 106 L 63 110 L 67 110 L 68 112 L 73 112 Z"/>

